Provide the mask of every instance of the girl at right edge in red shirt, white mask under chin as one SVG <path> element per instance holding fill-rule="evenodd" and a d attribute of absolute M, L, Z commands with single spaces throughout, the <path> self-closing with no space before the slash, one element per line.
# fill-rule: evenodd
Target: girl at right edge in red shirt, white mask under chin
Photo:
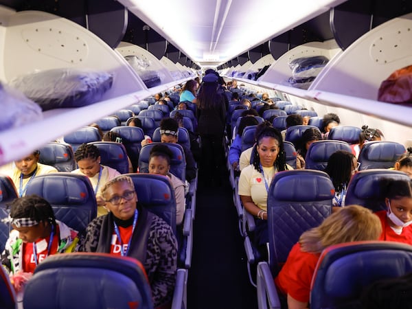
<path fill-rule="evenodd" d="M 379 185 L 388 207 L 375 213 L 382 223 L 379 240 L 412 244 L 412 180 L 381 179 Z"/>

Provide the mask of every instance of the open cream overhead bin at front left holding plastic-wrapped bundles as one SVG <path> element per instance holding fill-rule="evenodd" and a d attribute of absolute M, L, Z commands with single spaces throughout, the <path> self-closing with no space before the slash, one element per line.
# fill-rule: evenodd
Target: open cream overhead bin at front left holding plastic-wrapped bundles
<path fill-rule="evenodd" d="M 0 164 L 19 159 L 36 148 L 95 119 L 130 106 L 170 87 L 145 86 L 126 60 L 84 27 L 40 11 L 15 12 L 0 7 L 0 80 L 47 69 L 90 69 L 113 75 L 113 85 L 99 102 L 79 108 L 43 112 L 43 120 L 0 132 Z M 185 78 L 173 83 L 184 82 Z"/>

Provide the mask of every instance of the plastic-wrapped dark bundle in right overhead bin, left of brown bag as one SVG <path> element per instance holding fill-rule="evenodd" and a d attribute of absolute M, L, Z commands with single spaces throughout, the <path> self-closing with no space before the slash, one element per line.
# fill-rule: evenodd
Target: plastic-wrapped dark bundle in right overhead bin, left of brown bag
<path fill-rule="evenodd" d="M 298 80 L 318 76 L 328 61 L 325 56 L 296 58 L 289 62 L 289 67 L 292 69 L 292 77 Z"/>

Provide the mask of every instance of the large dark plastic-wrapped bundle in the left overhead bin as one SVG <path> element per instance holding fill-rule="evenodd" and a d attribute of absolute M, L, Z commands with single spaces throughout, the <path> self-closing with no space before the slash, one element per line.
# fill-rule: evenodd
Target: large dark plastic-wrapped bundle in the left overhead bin
<path fill-rule="evenodd" d="M 111 89 L 113 76 L 104 71 L 50 69 L 15 78 L 12 87 L 38 103 L 43 111 L 80 107 L 101 100 Z"/>

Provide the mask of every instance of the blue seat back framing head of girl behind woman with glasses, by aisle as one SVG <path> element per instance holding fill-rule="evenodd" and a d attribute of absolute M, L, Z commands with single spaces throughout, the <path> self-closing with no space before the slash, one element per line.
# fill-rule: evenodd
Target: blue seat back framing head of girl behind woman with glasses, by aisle
<path fill-rule="evenodd" d="M 150 144 L 146 144 L 140 150 L 139 155 L 139 172 L 141 173 L 148 173 L 149 172 L 149 157 L 150 157 L 150 150 L 156 144 L 161 144 L 159 142 L 153 142 Z M 174 176 L 179 177 L 182 181 L 186 179 L 186 160 L 185 160 L 185 152 L 183 148 L 179 144 L 172 144 L 172 143 L 162 143 L 170 148 L 173 152 L 172 161 L 170 162 L 170 172 L 174 174 Z"/>

